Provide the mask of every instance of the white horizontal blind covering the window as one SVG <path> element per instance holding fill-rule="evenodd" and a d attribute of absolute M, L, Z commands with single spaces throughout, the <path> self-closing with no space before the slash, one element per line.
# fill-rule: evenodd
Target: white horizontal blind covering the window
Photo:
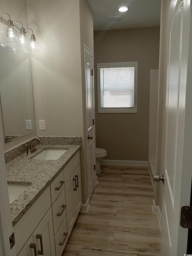
<path fill-rule="evenodd" d="M 134 69 L 100 67 L 101 108 L 134 107 Z"/>

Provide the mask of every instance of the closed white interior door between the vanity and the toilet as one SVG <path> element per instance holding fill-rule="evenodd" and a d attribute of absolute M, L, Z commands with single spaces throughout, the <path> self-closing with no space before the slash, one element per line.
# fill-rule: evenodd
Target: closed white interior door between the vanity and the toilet
<path fill-rule="evenodd" d="M 85 97 L 86 97 L 86 135 L 87 135 L 87 174 L 88 197 L 90 199 L 96 185 L 95 154 L 95 101 L 93 81 L 93 53 L 84 45 Z"/>

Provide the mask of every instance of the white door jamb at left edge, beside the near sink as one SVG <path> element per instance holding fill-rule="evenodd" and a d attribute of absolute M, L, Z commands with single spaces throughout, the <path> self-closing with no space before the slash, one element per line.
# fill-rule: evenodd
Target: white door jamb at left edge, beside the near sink
<path fill-rule="evenodd" d="M 0 127 L 0 255 L 15 256 L 15 247 L 11 249 L 9 237 L 13 233 L 9 195 L 7 188 L 7 176 L 5 172 L 5 160 L 3 139 Z"/>

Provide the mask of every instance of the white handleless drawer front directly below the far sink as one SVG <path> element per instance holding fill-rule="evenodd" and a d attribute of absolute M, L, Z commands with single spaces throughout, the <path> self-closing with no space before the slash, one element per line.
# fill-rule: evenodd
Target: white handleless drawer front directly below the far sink
<path fill-rule="evenodd" d="M 80 164 L 80 153 L 79 151 L 76 153 L 76 155 L 73 156 L 71 161 L 64 167 L 64 180 L 65 184 L 67 184 L 67 181 L 70 179 L 74 171 L 76 170 L 77 166 Z"/>

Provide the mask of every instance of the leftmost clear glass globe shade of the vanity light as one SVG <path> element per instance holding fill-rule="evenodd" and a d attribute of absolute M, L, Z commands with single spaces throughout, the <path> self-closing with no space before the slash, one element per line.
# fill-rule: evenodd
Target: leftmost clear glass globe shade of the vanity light
<path fill-rule="evenodd" d="M 14 26 L 5 26 L 1 31 L 1 35 L 6 42 L 16 43 L 19 39 L 20 32 Z"/>

